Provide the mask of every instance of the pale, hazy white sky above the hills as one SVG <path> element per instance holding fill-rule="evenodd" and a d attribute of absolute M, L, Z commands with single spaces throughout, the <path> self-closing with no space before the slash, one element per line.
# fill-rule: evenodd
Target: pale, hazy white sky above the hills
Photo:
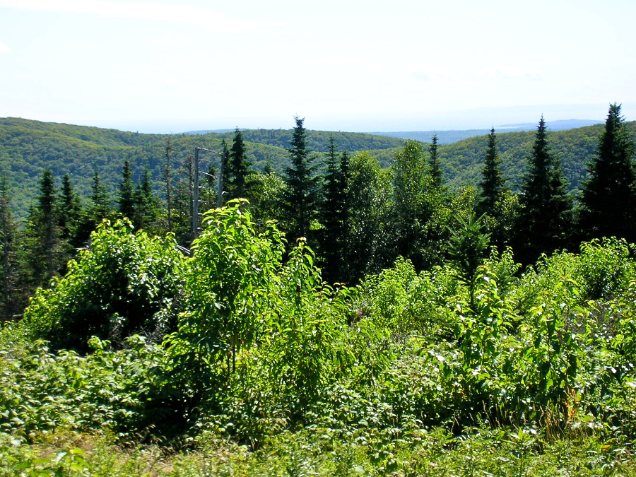
<path fill-rule="evenodd" d="M 636 119 L 633 0 L 0 0 L 0 117 L 141 132 Z"/>

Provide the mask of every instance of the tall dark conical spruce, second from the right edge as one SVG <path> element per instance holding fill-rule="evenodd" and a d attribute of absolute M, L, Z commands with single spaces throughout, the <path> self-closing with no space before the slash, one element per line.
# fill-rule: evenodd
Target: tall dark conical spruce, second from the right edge
<path fill-rule="evenodd" d="M 565 179 L 560 161 L 550 151 L 543 116 L 536 128 L 528 163 L 517 226 L 519 257 L 526 264 L 542 253 L 563 247 L 570 231 L 570 201 L 565 192 Z"/>

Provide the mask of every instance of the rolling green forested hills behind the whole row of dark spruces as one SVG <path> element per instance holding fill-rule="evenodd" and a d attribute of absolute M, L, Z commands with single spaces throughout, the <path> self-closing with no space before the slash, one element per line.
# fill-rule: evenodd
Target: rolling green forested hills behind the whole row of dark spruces
<path fill-rule="evenodd" d="M 628 123 L 628 130 L 636 137 L 636 122 Z M 603 125 L 549 132 L 553 151 L 563 163 L 563 170 L 575 190 L 586 177 L 586 165 L 594 157 Z M 333 135 L 338 151 L 370 151 L 382 167 L 389 167 L 395 151 L 404 145 L 404 139 L 374 136 L 362 133 L 307 131 L 308 143 L 317 159 L 329 146 Z M 291 130 L 252 129 L 243 131 L 248 159 L 257 170 L 271 165 L 283 172 L 288 164 L 285 150 Z M 102 182 L 114 199 L 121 181 L 124 160 L 131 161 L 134 181 L 144 167 L 152 172 L 155 188 L 160 191 L 165 166 L 165 147 L 172 143 L 172 164 L 179 163 L 194 153 L 196 146 L 220 151 L 221 141 L 231 144 L 232 132 L 206 134 L 139 134 L 115 129 L 73 126 L 32 121 L 28 119 L 0 118 L 0 173 L 6 175 L 12 187 L 13 206 L 18 218 L 24 218 L 37 194 L 38 181 L 47 167 L 53 171 L 58 184 L 69 173 L 76 192 L 86 197 L 90 193 L 93 174 L 97 170 Z M 525 173 L 525 159 L 534 141 L 533 131 L 497 134 L 505 177 L 513 189 L 518 187 Z M 444 178 L 451 189 L 467 184 L 478 184 L 486 146 L 485 136 L 473 137 L 440 146 Z M 202 158 L 218 165 L 218 155 L 204 152 Z"/>

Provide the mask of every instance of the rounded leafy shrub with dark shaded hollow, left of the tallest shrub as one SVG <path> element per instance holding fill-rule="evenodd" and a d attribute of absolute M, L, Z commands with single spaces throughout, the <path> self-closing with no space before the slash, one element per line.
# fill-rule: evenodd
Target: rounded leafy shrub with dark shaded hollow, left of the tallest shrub
<path fill-rule="evenodd" d="M 184 257 L 175 245 L 170 236 L 134 233 L 127 220 L 102 223 L 66 276 L 37 290 L 25 324 L 56 349 L 88 351 L 90 336 L 117 347 L 132 334 L 157 341 L 175 324 L 173 301 L 182 287 Z"/>

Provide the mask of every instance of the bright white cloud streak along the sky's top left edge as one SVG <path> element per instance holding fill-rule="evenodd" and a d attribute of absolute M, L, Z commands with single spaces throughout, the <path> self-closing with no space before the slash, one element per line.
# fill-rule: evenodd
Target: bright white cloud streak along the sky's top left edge
<path fill-rule="evenodd" d="M 276 25 L 272 22 L 237 20 L 208 8 L 160 4 L 156 1 L 0 0 L 0 7 L 57 13 L 84 13 L 102 18 L 192 23 L 220 33 L 249 33 L 258 27 Z"/>

